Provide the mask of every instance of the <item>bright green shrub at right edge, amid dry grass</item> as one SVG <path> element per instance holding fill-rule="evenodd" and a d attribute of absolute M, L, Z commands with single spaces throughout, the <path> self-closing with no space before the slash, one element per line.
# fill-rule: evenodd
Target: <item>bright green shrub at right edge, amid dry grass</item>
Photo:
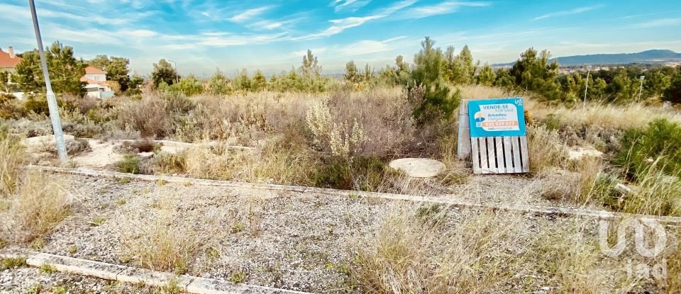
<path fill-rule="evenodd" d="M 681 126 L 660 118 L 648 123 L 647 128 L 627 130 L 614 162 L 634 181 L 653 163 L 665 174 L 677 176 L 681 173 Z"/>

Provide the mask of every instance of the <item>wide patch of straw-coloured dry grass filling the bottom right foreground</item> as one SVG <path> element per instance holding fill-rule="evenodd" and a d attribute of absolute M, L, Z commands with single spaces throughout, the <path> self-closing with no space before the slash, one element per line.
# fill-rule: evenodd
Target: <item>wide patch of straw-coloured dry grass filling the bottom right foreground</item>
<path fill-rule="evenodd" d="M 669 290 L 678 287 L 674 277 L 665 282 L 626 276 L 627 262 L 635 256 L 603 254 L 592 221 L 540 219 L 536 226 L 525 215 L 469 212 L 452 222 L 445 220 L 447 210 L 399 210 L 375 236 L 362 240 L 352 270 L 359 290 L 536 293 L 548 287 L 550 293 L 631 293 L 635 288 L 675 293 Z M 668 252 L 678 266 L 677 253 Z"/>

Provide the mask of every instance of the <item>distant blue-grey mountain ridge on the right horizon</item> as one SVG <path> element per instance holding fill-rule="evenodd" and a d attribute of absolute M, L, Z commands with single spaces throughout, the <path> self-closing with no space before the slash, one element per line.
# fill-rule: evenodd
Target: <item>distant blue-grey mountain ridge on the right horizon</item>
<path fill-rule="evenodd" d="M 660 62 L 681 62 L 681 53 L 672 50 L 646 50 L 638 53 L 618 53 L 618 54 L 592 54 L 556 57 L 560 66 L 587 65 L 587 64 L 629 64 L 629 63 L 660 63 Z M 492 64 L 492 67 L 512 66 L 516 62 Z"/>

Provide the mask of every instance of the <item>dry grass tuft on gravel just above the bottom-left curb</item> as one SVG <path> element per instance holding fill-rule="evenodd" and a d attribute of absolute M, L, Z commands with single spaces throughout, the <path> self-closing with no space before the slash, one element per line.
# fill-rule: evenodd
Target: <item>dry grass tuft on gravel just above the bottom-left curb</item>
<path fill-rule="evenodd" d="M 135 230 L 126 230 L 121 237 L 125 256 L 121 257 L 155 271 L 186 273 L 210 234 L 183 225 L 185 222 L 171 211 L 172 203 L 165 203 L 162 209 L 153 220 L 133 224 Z"/>

